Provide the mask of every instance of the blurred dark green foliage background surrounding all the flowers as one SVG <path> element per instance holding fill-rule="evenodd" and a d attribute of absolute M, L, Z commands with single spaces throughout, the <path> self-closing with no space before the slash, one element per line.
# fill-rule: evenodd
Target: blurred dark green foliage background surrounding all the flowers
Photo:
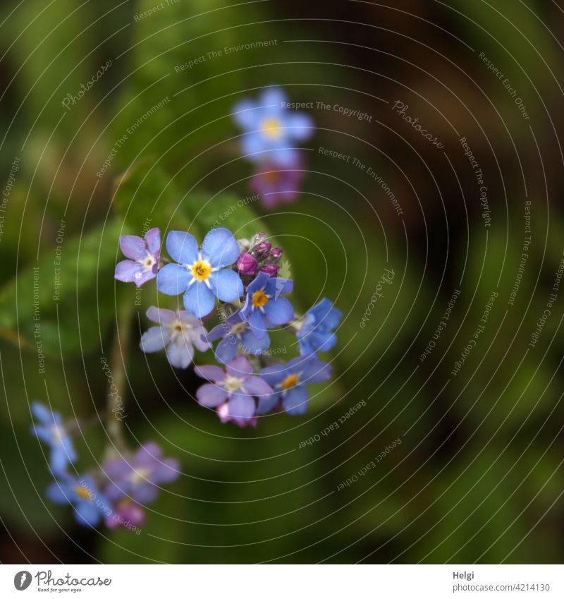
<path fill-rule="evenodd" d="M 563 289 L 529 346 L 564 251 L 558 4 L 25 0 L 0 11 L 2 562 L 560 562 Z M 261 40 L 276 43 L 208 54 Z M 191 369 L 137 349 L 156 294 L 146 286 L 135 305 L 113 272 L 120 234 L 141 234 L 150 219 L 163 234 L 189 227 L 202 238 L 250 194 L 252 166 L 239 158 L 230 111 L 268 85 L 314 102 L 304 189 L 293 205 L 266 212 L 251 202 L 223 224 L 274 234 L 295 305 L 327 296 L 345 316 L 329 356 L 334 380 L 314 389 L 307 415 L 239 430 L 197 406 Z M 393 111 L 398 100 L 442 149 Z M 482 169 L 491 226 L 463 137 Z M 526 201 L 531 243 L 520 271 Z M 361 328 L 385 268 L 393 284 Z M 455 289 L 448 325 L 421 361 Z M 128 310 L 130 325 L 118 319 Z M 87 531 L 70 509 L 47 504 L 45 456 L 29 434 L 32 399 L 85 419 L 103 409 L 99 359 L 116 336 L 128 440 L 154 440 L 183 467 L 138 536 Z M 290 337 L 276 344 L 296 355 Z M 398 437 L 376 468 L 337 490 Z M 106 442 L 99 423 L 77 440 L 79 470 Z"/>

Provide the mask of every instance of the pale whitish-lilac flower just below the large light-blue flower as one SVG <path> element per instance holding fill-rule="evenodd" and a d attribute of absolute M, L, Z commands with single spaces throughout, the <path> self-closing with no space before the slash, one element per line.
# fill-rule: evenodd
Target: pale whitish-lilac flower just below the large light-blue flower
<path fill-rule="evenodd" d="M 164 310 L 152 306 L 147 310 L 147 318 L 160 327 L 151 327 L 143 333 L 140 347 L 145 353 L 159 351 L 166 347 L 166 357 L 176 368 L 188 368 L 194 357 L 194 346 L 200 351 L 210 349 L 202 335 L 207 334 L 202 321 L 186 312 Z"/>

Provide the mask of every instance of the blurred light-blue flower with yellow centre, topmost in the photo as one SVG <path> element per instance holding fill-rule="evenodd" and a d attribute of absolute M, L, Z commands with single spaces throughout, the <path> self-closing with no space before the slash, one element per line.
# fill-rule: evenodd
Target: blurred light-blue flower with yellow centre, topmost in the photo
<path fill-rule="evenodd" d="M 269 160 L 281 167 L 295 162 L 294 143 L 312 134 L 312 119 L 300 112 L 283 108 L 286 95 L 269 87 L 258 102 L 245 99 L 233 108 L 233 119 L 245 131 L 243 153 L 252 161 Z"/>

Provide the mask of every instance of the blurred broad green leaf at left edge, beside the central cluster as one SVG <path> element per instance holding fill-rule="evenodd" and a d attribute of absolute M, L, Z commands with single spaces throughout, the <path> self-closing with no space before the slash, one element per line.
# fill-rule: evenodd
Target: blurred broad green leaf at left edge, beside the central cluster
<path fill-rule="evenodd" d="M 21 347 L 61 358 L 99 346 L 114 315 L 120 224 L 82 237 L 63 237 L 60 250 L 44 250 L 0 291 L 0 334 Z M 120 288 L 120 294 L 133 289 Z M 128 301 L 133 301 L 128 300 Z"/>

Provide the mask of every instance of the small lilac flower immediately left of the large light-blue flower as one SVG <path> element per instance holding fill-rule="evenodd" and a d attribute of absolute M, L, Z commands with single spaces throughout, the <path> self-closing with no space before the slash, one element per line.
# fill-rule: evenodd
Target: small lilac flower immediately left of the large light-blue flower
<path fill-rule="evenodd" d="M 145 240 L 136 235 L 122 235 L 119 246 L 123 255 L 130 260 L 122 260 L 116 265 L 114 277 L 125 283 L 135 283 L 137 287 L 157 277 L 161 256 L 161 232 L 149 229 Z"/>

